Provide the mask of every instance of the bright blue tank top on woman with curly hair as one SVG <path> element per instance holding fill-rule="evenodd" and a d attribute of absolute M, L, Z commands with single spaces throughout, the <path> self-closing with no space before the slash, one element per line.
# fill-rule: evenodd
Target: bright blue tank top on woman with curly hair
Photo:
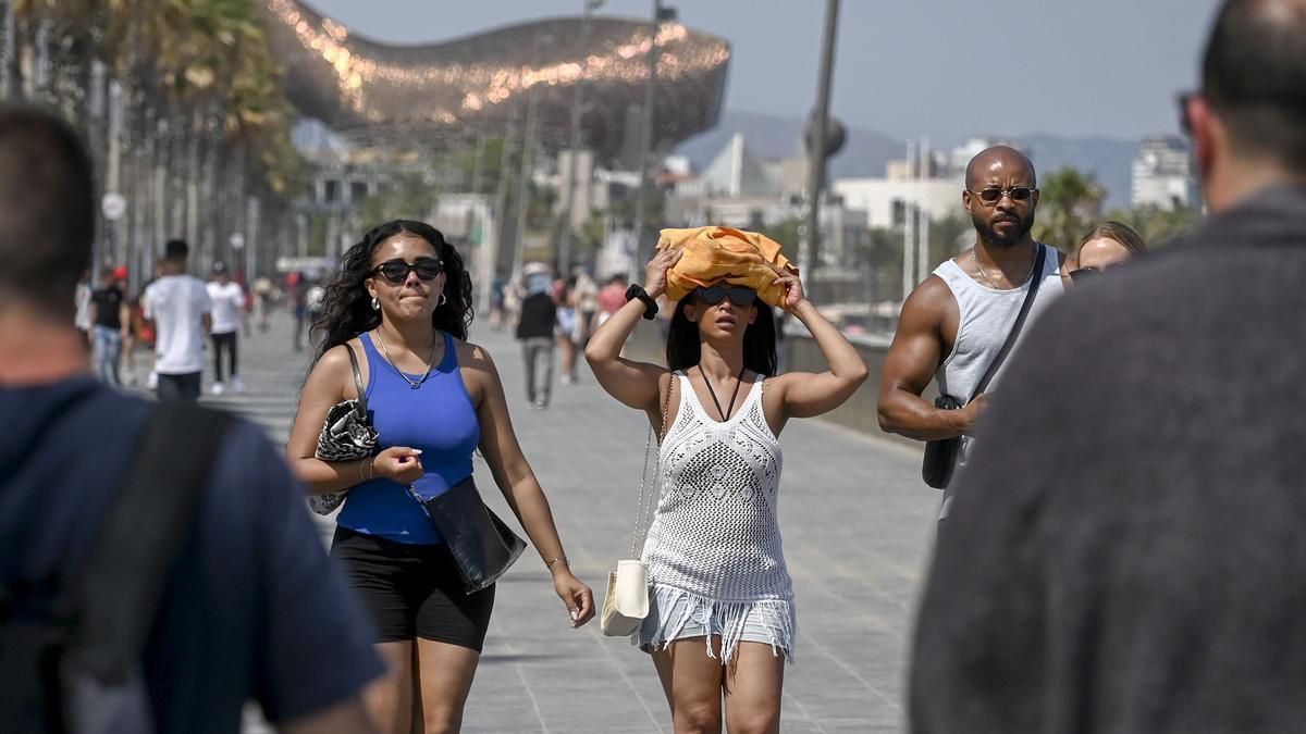
<path fill-rule="evenodd" d="M 444 334 L 444 359 L 422 387 L 413 389 L 362 336 L 367 355 L 367 407 L 380 434 L 380 448 L 422 449 L 423 494 L 439 495 L 471 475 L 471 453 L 481 443 L 481 423 L 471 404 L 453 337 Z M 409 375 L 418 380 L 422 375 Z M 434 491 L 432 491 L 434 490 Z M 401 543 L 443 542 L 439 530 L 407 488 L 390 479 L 372 479 L 349 490 L 340 525 Z"/>

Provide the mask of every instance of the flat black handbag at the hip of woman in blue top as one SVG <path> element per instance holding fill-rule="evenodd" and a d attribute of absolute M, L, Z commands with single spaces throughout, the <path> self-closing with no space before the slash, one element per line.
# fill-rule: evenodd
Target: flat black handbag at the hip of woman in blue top
<path fill-rule="evenodd" d="M 526 550 L 526 542 L 486 507 L 471 477 L 432 498 L 422 496 L 410 485 L 409 495 L 422 504 L 444 535 L 468 594 L 487 589 Z"/>

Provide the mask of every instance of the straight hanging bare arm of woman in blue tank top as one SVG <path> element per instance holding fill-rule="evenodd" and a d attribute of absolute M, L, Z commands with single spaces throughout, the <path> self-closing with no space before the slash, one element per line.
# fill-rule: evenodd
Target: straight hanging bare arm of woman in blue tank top
<path fill-rule="evenodd" d="M 567 560 L 554 560 L 565 558 L 563 542 L 558 537 L 549 499 L 512 430 L 512 417 L 508 414 L 508 400 L 503 393 L 499 370 L 483 349 L 471 346 L 470 351 L 470 359 L 460 359 L 460 363 L 466 364 L 479 383 L 477 421 L 481 423 L 481 453 L 490 466 L 499 491 L 508 500 L 535 551 L 550 564 L 554 590 L 571 613 L 571 626 L 580 627 L 594 616 L 594 593 L 572 575 Z"/>

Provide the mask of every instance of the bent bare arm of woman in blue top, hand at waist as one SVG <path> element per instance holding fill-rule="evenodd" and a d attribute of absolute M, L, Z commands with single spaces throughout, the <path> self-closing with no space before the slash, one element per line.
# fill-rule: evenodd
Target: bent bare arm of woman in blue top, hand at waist
<path fill-rule="evenodd" d="M 328 350 L 313 366 L 299 393 L 299 411 L 295 413 L 295 424 L 286 441 L 286 461 L 311 494 L 338 492 L 376 477 L 402 485 L 422 477 L 419 455 L 406 447 L 392 447 L 360 461 L 323 461 L 313 456 L 326 411 L 342 400 L 357 397 L 354 371 L 345 347 Z"/>

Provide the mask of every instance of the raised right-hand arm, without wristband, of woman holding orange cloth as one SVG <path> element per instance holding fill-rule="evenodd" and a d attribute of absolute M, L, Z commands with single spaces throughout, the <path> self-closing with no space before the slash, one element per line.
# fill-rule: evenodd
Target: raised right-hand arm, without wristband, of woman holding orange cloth
<path fill-rule="evenodd" d="M 857 347 L 807 300 L 798 277 L 778 268 L 774 270 L 786 287 L 790 313 L 807 327 L 829 364 L 824 372 L 790 372 L 777 379 L 784 394 L 784 417 L 811 418 L 829 413 L 866 381 L 866 363 Z"/>

